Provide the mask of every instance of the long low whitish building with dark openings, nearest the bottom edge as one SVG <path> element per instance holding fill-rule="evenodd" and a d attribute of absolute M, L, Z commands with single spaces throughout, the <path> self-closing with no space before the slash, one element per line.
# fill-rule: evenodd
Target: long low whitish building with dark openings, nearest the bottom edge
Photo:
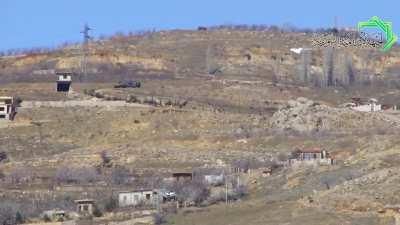
<path fill-rule="evenodd" d="M 119 192 L 118 205 L 120 207 L 152 205 L 157 201 L 157 197 L 157 191 L 151 189 Z"/>

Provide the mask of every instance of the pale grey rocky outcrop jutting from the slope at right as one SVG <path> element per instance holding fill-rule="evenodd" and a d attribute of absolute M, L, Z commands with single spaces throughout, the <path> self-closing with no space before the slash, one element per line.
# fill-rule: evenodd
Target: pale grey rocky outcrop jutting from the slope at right
<path fill-rule="evenodd" d="M 274 113 L 270 127 L 279 131 L 315 132 L 392 129 L 400 125 L 389 115 L 380 112 L 355 112 L 333 108 L 306 98 L 290 100 L 287 106 Z"/>

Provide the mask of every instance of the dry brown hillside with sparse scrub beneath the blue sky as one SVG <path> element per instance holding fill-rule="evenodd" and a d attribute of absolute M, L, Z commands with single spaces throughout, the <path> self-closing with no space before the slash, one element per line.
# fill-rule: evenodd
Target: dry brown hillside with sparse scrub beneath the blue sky
<path fill-rule="evenodd" d="M 0 95 L 23 100 L 14 121 L 0 121 L 2 201 L 31 218 L 74 210 L 77 198 L 94 198 L 105 210 L 110 196 L 159 187 L 173 172 L 228 173 L 245 162 L 255 172 L 231 176 L 243 179 L 248 195 L 228 206 L 206 199 L 166 215 L 166 223 L 394 224 L 384 207 L 400 201 L 399 113 L 341 105 L 355 96 L 399 104 L 399 48 L 313 49 L 307 60 L 290 51 L 310 47 L 311 35 L 222 29 L 115 36 L 90 43 L 87 76 L 79 73 L 79 45 L 1 57 Z M 328 67 L 334 84 L 324 80 Z M 55 70 L 76 72 L 73 91 L 55 92 Z M 355 83 L 344 82 L 349 74 Z M 114 88 L 129 79 L 141 88 Z M 315 148 L 335 164 L 287 164 L 296 149 Z M 271 176 L 260 175 L 264 167 L 274 169 Z"/>

